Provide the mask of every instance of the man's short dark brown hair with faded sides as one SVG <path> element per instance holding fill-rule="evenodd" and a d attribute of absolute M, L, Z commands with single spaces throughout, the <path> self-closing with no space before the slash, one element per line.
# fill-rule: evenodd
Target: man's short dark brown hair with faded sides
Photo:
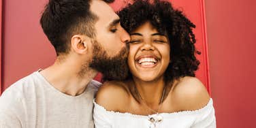
<path fill-rule="evenodd" d="M 44 33 L 57 56 L 69 52 L 69 42 L 76 34 L 95 37 L 97 16 L 90 11 L 92 0 L 49 0 L 40 19 Z M 114 0 L 104 0 L 112 3 Z"/>

